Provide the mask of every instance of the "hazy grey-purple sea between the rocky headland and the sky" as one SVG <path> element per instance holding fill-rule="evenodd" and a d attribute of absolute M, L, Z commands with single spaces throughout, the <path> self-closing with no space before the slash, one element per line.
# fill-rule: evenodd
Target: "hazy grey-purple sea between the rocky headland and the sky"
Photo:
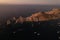
<path fill-rule="evenodd" d="M 60 8 L 60 5 L 0 5 L 0 23 L 12 17 L 28 17 L 34 13 Z"/>

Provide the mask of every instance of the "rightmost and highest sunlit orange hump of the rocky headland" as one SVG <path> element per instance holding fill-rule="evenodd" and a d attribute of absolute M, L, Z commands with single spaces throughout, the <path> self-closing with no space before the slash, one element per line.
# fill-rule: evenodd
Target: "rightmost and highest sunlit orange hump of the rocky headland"
<path fill-rule="evenodd" d="M 51 18 L 51 19 L 60 18 L 60 9 L 52 9 L 51 11 L 45 12 L 45 13 L 50 15 L 49 18 Z"/>

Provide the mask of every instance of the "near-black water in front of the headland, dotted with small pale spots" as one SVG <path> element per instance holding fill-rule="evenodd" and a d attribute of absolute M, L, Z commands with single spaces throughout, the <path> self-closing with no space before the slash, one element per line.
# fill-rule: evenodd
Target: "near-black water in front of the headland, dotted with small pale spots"
<path fill-rule="evenodd" d="M 24 22 L 5 25 L 0 32 L 0 39 L 3 40 L 58 40 L 58 20 L 43 22 Z"/>

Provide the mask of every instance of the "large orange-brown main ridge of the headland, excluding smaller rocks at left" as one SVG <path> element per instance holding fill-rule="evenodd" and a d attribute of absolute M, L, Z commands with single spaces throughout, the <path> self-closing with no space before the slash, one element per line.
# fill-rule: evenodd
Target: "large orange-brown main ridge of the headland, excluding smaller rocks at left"
<path fill-rule="evenodd" d="M 60 9 L 52 9 L 48 12 L 37 12 L 32 14 L 29 19 L 32 21 L 47 21 L 60 18 Z"/>

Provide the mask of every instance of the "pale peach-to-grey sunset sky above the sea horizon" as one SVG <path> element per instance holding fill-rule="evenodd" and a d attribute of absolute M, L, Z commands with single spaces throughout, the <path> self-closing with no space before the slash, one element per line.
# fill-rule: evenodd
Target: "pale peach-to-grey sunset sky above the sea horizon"
<path fill-rule="evenodd" d="M 0 4 L 60 4 L 60 0 L 0 0 Z"/>

